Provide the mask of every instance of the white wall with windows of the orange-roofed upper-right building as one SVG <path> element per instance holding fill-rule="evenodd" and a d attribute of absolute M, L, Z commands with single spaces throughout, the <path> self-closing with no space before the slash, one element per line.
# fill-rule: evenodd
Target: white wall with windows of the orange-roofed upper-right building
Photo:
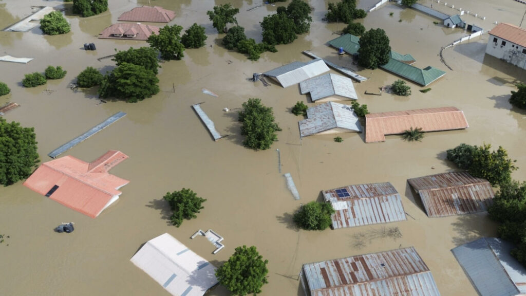
<path fill-rule="evenodd" d="M 497 39 L 497 42 L 494 41 L 494 38 Z M 504 45 L 502 44 L 503 42 L 505 42 Z M 491 34 L 489 35 L 488 45 L 486 46 L 487 54 L 526 69 L 526 53 L 523 53 L 523 51 L 526 52 L 526 47 L 503 40 Z"/>

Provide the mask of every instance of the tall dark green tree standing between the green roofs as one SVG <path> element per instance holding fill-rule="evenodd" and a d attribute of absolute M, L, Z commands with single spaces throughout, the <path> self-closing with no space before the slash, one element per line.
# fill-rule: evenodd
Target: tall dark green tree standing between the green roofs
<path fill-rule="evenodd" d="M 360 48 L 358 48 L 358 64 L 369 69 L 389 62 L 391 46 L 389 37 L 383 29 L 370 29 L 360 37 Z"/>

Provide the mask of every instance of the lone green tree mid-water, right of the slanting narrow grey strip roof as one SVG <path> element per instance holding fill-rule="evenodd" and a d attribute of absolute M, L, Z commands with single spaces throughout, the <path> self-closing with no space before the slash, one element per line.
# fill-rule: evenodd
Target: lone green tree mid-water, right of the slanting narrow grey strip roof
<path fill-rule="evenodd" d="M 241 135 L 246 136 L 243 144 L 255 150 L 268 149 L 272 143 L 278 141 L 276 131 L 281 131 L 274 122 L 272 108 L 261 104 L 259 98 L 249 98 L 242 106 L 239 122 L 242 122 Z"/>

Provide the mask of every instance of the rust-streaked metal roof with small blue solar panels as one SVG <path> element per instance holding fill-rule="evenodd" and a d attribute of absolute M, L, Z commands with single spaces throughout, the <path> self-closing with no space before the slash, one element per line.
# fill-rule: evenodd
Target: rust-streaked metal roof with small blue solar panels
<path fill-rule="evenodd" d="M 322 191 L 330 202 L 332 228 L 346 228 L 407 220 L 402 199 L 391 183 L 349 185 Z"/>

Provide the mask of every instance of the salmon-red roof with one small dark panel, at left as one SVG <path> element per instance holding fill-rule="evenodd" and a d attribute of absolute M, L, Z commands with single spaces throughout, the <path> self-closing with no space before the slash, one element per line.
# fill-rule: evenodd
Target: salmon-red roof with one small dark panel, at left
<path fill-rule="evenodd" d="M 122 193 L 119 188 L 128 180 L 110 175 L 108 171 L 128 156 L 110 150 L 92 163 L 64 156 L 43 163 L 24 182 L 24 186 L 70 209 L 95 218 Z M 51 192 L 57 186 L 54 192 Z"/>

